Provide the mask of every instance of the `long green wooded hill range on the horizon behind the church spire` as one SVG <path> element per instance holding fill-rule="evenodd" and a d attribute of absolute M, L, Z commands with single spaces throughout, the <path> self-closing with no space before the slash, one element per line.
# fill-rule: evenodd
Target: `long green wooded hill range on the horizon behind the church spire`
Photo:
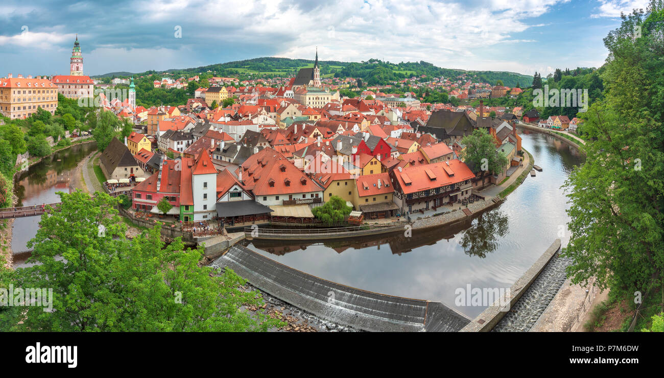
<path fill-rule="evenodd" d="M 519 84 L 522 87 L 531 86 L 533 76 L 519 74 L 516 72 L 503 71 L 468 71 L 460 69 L 441 68 L 432 63 L 424 62 L 383 62 L 378 59 L 370 59 L 366 62 L 339 62 L 336 60 L 321 60 L 321 76 L 337 78 L 361 78 L 369 86 L 385 85 L 390 81 L 404 78 L 417 77 L 421 82 L 428 81 L 428 78 L 444 76 L 450 80 L 456 80 L 461 76 L 469 76 L 474 81 L 488 82 L 495 85 L 498 80 L 502 80 L 505 86 L 513 87 Z M 214 74 L 214 76 L 239 76 L 244 78 L 257 77 L 276 77 L 294 75 L 299 68 L 313 66 L 313 60 L 290 59 L 290 58 L 253 58 L 246 60 L 237 60 L 234 62 L 210 64 L 196 68 L 171 69 L 166 71 L 149 71 L 141 74 L 168 72 L 173 75 L 193 76 L 195 74 Z M 110 72 L 108 74 L 97 75 L 95 78 L 112 76 L 130 76 L 131 72 Z M 420 76 L 426 75 L 426 78 Z"/>

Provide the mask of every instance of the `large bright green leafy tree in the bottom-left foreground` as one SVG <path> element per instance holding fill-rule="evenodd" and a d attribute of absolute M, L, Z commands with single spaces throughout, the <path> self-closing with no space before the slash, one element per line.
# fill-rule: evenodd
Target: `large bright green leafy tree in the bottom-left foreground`
<path fill-rule="evenodd" d="M 181 238 L 165 246 L 161 223 L 129 240 L 117 199 L 58 194 L 62 205 L 42 216 L 29 242 L 30 261 L 39 264 L 13 278 L 15 285 L 52 288 L 54 311 L 22 308 L 24 322 L 6 322 L 9 330 L 266 331 L 283 325 L 261 311 L 241 311 L 262 306 L 260 293 L 240 290 L 246 282 L 230 269 L 216 276 L 199 267 L 202 248 L 188 250 Z"/>

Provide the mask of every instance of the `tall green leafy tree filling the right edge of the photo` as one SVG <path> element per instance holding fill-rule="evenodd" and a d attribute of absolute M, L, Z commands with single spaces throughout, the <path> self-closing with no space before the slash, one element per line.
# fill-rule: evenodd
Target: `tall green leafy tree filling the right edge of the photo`
<path fill-rule="evenodd" d="M 634 35 L 641 27 L 641 37 Z M 664 266 L 664 7 L 622 16 L 604 39 L 604 98 L 584 114 L 586 161 L 565 183 L 574 284 L 632 296 L 661 286 Z"/>

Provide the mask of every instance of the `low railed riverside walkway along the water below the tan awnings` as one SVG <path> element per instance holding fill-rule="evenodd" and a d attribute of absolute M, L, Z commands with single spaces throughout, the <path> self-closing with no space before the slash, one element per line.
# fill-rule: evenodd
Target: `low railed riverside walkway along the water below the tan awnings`
<path fill-rule="evenodd" d="M 331 227 L 327 229 L 268 229 L 259 227 L 244 227 L 247 238 L 272 240 L 317 240 L 333 238 L 352 238 L 354 236 L 376 235 L 404 231 L 406 223 L 396 223 L 386 226 L 357 226 L 357 227 Z"/>

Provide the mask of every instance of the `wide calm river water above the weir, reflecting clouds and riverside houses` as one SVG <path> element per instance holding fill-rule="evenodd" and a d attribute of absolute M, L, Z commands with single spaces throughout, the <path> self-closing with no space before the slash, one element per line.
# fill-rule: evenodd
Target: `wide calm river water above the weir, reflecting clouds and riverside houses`
<path fill-rule="evenodd" d="M 319 243 L 251 240 L 248 248 L 326 280 L 440 301 L 474 318 L 485 306 L 455 306 L 456 288 L 509 288 L 555 238 L 563 246 L 569 238 L 560 186 L 582 156 L 551 136 L 527 130 L 521 136 L 544 171 L 475 219 L 414 230 L 410 238 L 396 233 Z"/>

